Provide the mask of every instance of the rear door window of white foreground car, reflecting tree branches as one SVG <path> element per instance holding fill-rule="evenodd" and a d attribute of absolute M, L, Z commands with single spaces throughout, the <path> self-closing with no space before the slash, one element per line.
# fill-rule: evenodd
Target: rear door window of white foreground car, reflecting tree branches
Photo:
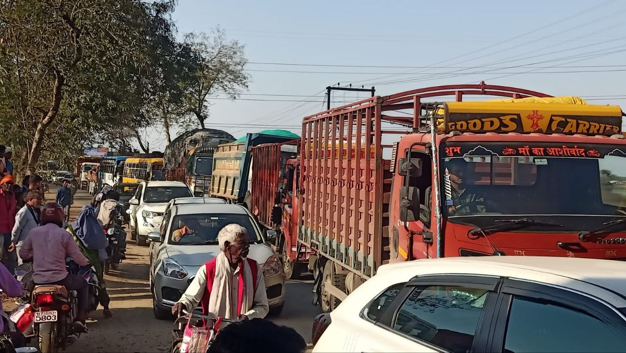
<path fill-rule="evenodd" d="M 488 290 L 416 287 L 398 310 L 393 329 L 450 350 L 471 349 Z"/>

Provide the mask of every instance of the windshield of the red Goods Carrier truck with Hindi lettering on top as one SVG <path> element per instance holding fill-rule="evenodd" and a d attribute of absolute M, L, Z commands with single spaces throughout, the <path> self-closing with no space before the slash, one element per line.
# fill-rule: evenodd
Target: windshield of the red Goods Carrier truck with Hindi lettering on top
<path fill-rule="evenodd" d="M 626 216 L 626 146 L 455 143 L 443 151 L 449 218 Z"/>

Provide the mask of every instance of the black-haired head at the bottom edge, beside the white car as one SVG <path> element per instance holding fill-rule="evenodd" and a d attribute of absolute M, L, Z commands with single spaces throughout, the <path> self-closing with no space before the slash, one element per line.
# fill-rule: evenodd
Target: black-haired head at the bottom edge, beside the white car
<path fill-rule="evenodd" d="M 270 320 L 252 319 L 228 325 L 208 348 L 212 353 L 239 352 L 297 352 L 307 344 L 294 329 L 274 324 Z"/>

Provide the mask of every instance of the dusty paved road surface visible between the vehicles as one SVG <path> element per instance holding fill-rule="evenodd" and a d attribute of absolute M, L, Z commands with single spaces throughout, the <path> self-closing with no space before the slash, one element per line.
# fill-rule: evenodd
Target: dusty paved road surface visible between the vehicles
<path fill-rule="evenodd" d="M 56 191 L 56 190 L 51 190 Z M 53 194 L 46 195 L 54 200 Z M 80 212 L 91 197 L 79 191 L 74 198 L 71 217 Z M 172 322 L 156 320 L 152 315 L 152 296 L 148 286 L 148 248 L 128 242 L 127 260 L 118 271 L 106 276 L 111 297 L 113 317 L 105 319 L 102 310 L 91 314 L 89 334 L 67 352 L 167 352 L 171 343 Z M 280 325 L 293 327 L 310 342 L 311 325 L 319 307 L 310 305 L 311 279 L 289 281 L 286 284 L 285 307 L 279 317 L 269 317 Z"/>

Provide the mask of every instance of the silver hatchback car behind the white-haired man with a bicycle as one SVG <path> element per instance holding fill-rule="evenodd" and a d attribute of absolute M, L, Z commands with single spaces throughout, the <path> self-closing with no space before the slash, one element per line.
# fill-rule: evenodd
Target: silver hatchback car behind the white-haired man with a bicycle
<path fill-rule="evenodd" d="M 170 310 L 187 290 L 204 263 L 220 253 L 217 233 L 237 223 L 248 231 L 249 257 L 263 270 L 271 314 L 280 314 L 285 296 L 285 277 L 279 257 L 265 243 L 259 225 L 239 205 L 184 203 L 171 205 L 163 215 L 160 232 L 148 234 L 150 242 L 150 289 L 156 319 L 168 319 Z M 192 237 L 174 240 L 172 233 L 183 227 L 194 230 Z"/>

